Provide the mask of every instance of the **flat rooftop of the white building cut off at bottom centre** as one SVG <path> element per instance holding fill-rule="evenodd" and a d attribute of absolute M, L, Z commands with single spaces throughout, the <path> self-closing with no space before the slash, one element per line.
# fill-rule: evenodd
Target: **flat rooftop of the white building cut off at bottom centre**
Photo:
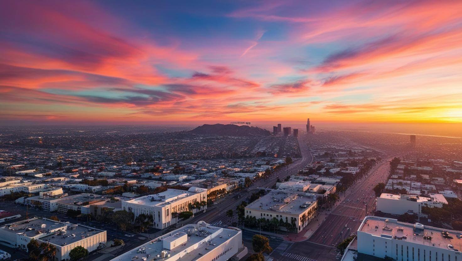
<path fill-rule="evenodd" d="M 176 260 L 177 258 L 173 258 L 175 255 L 183 252 L 185 249 L 197 243 L 200 243 L 201 241 L 205 241 L 206 237 L 212 235 L 212 239 L 207 241 L 207 243 L 199 244 L 199 246 L 196 249 L 190 251 L 188 254 L 181 257 L 182 261 L 193 261 L 207 254 L 207 252 L 211 251 L 212 249 L 219 247 L 221 244 L 225 243 L 226 240 L 236 236 L 240 232 L 240 230 L 234 228 L 221 228 L 210 225 L 199 226 L 197 230 L 195 229 L 195 227 L 197 227 L 197 225 L 185 225 L 180 229 L 177 229 L 161 237 L 153 239 L 148 243 L 145 243 L 135 249 L 132 249 L 131 251 L 119 255 L 111 261 L 131 261 L 134 259 L 135 256 L 138 256 L 140 260 L 147 255 L 150 255 L 148 260 L 152 260 L 157 255 L 161 255 L 161 251 L 163 250 L 167 251 L 168 254 L 170 254 L 170 257 L 158 258 L 157 260 Z M 163 239 L 168 238 L 170 236 L 174 236 L 178 232 L 186 233 L 188 235 L 188 241 L 177 246 L 174 249 L 164 249 Z"/>

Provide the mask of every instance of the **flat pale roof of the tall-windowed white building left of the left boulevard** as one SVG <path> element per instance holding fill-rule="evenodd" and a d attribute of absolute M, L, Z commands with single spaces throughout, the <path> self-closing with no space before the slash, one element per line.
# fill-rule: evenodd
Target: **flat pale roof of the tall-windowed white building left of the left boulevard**
<path fill-rule="evenodd" d="M 164 206 L 195 194 L 187 190 L 169 188 L 164 192 L 127 200 L 127 202 L 143 206 Z"/>

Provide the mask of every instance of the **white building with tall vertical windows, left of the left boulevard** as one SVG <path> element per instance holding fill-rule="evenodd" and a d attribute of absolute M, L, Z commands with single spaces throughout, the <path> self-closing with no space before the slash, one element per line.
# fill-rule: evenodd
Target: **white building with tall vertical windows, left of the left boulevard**
<path fill-rule="evenodd" d="M 172 218 L 171 213 L 183 211 L 197 212 L 198 209 L 190 210 L 189 204 L 195 202 L 207 202 L 207 188 L 189 188 L 188 191 L 180 189 L 167 189 L 164 192 L 139 197 L 133 200 L 122 201 L 122 209 L 133 212 L 135 218 L 140 214 L 152 215 L 153 226 L 164 229 L 176 224 L 178 218 Z M 207 206 L 203 206 L 207 208 Z"/>

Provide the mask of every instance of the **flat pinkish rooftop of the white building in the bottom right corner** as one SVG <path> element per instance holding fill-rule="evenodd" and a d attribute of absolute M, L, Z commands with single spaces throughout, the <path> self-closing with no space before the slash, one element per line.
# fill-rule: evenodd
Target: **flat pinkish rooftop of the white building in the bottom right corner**
<path fill-rule="evenodd" d="M 388 220 L 388 222 L 385 222 Z M 462 236 L 461 231 L 444 230 L 441 228 L 424 226 L 424 229 L 417 229 L 414 231 L 414 225 L 409 223 L 399 222 L 396 219 L 386 219 L 381 217 L 366 217 L 363 223 L 359 226 L 358 231 L 366 232 L 371 235 L 382 237 L 388 235 L 395 239 L 400 239 L 407 242 L 438 247 L 441 249 L 448 249 L 448 244 L 454 246 L 455 249 L 460 249 Z M 441 232 L 447 231 L 454 238 L 446 238 Z M 432 237 L 431 239 L 424 239 L 424 236 Z"/>

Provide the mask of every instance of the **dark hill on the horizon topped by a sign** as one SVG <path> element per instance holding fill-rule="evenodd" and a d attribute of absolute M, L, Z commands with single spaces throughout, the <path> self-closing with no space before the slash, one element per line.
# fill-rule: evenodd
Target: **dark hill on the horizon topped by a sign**
<path fill-rule="evenodd" d="M 238 126 L 234 124 L 204 124 L 191 130 L 194 134 L 220 135 L 220 136 L 249 136 L 260 135 L 269 136 L 271 133 L 259 127 L 249 127 L 247 125 Z"/>

